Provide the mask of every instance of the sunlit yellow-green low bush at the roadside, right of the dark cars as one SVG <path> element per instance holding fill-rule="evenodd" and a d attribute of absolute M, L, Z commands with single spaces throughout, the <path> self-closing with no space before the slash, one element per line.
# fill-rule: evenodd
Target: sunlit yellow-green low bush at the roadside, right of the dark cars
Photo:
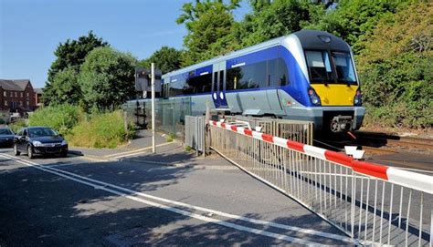
<path fill-rule="evenodd" d="M 133 133 L 132 124 L 128 124 L 125 130 L 123 113 L 118 110 L 95 114 L 90 119 L 80 121 L 67 139 L 72 146 L 114 149 L 131 139 Z"/>

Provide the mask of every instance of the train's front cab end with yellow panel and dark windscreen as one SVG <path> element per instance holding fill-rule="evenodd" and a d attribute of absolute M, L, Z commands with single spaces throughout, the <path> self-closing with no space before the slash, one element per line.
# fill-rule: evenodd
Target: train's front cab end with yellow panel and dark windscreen
<path fill-rule="evenodd" d="M 316 129 L 360 129 L 365 109 L 350 46 L 322 31 L 303 30 L 294 35 L 303 51 L 311 103 L 308 115 L 314 119 Z"/>

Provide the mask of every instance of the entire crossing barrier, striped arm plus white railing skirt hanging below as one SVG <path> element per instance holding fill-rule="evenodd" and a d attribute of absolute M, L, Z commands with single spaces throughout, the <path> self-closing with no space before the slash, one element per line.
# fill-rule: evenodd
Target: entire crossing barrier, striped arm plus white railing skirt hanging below
<path fill-rule="evenodd" d="M 210 148 L 366 245 L 432 246 L 433 177 L 209 121 Z"/>

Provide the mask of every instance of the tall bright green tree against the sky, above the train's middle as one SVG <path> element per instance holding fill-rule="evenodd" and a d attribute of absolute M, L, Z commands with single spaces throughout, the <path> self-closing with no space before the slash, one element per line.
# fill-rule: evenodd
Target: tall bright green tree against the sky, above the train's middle
<path fill-rule="evenodd" d="M 240 0 L 196 0 L 195 5 L 187 3 L 183 6 L 183 14 L 176 22 L 185 24 L 188 34 L 184 38 L 187 52 L 183 65 L 191 65 L 214 56 L 208 53 L 212 44 L 232 31 L 235 23 L 232 10 L 239 6 Z"/>

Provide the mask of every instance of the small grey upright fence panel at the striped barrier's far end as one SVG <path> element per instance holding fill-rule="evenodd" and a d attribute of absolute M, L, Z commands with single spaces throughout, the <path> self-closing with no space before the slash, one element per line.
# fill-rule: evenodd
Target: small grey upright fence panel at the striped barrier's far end
<path fill-rule="evenodd" d="M 185 144 L 197 151 L 205 151 L 205 117 L 185 116 Z"/>

